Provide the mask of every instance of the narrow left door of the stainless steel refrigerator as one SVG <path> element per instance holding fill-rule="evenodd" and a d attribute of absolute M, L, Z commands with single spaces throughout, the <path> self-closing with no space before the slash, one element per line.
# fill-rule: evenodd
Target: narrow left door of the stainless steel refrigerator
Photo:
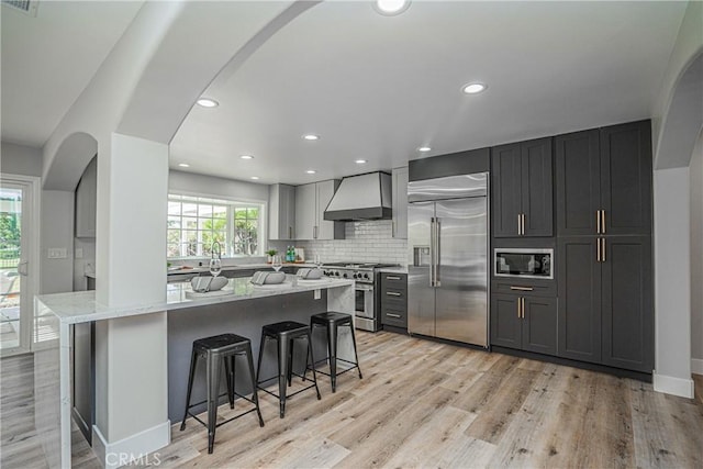
<path fill-rule="evenodd" d="M 435 335 L 435 288 L 432 286 L 431 221 L 434 202 L 408 205 L 408 331 Z"/>

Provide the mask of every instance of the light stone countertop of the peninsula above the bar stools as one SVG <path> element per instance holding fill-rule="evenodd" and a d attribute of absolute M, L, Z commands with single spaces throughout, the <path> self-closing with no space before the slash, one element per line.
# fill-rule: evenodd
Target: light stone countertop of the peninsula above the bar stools
<path fill-rule="evenodd" d="M 278 286 L 255 286 L 249 282 L 250 277 L 228 279 L 227 284 L 223 288 L 223 290 L 228 293 L 225 294 L 222 291 L 215 291 L 205 294 L 201 293 L 197 298 L 188 298 L 192 294 L 190 282 L 168 283 L 165 303 L 137 304 L 118 308 L 109 308 L 98 303 L 96 301 L 94 291 L 42 294 L 35 297 L 35 310 L 36 314 L 40 316 L 54 314 L 62 323 L 77 324 L 193 306 L 204 306 L 208 304 L 226 303 L 230 301 L 250 300 L 255 298 L 354 286 L 354 280 L 330 278 L 323 278 L 320 280 L 301 280 L 295 278 L 297 284 L 293 286 L 293 277 L 294 276 L 292 275 L 287 276 L 286 282 Z"/>

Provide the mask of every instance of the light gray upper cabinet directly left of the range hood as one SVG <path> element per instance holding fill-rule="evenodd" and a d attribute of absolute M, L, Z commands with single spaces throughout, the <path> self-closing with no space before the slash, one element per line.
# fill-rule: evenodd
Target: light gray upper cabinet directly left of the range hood
<path fill-rule="evenodd" d="M 331 179 L 295 187 L 295 239 L 344 239 L 344 223 L 324 219 L 337 186 Z"/>

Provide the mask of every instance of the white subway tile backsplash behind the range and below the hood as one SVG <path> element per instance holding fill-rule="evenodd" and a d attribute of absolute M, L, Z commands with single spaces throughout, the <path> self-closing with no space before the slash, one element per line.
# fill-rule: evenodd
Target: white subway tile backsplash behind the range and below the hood
<path fill-rule="evenodd" d="M 358 263 L 406 263 L 408 242 L 392 237 L 390 220 L 347 222 L 345 226 L 346 239 L 334 241 L 299 241 L 295 247 L 305 249 L 308 259 L 315 254 L 325 263 L 358 261 Z M 287 242 L 269 242 L 269 246 L 279 252 L 286 250 Z"/>

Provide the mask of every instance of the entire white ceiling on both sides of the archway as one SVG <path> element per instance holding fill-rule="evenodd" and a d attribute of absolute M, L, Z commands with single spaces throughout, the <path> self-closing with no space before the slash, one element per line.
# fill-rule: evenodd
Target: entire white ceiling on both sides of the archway
<path fill-rule="evenodd" d="M 66 18 L 76 8 L 41 3 L 32 34 L 2 9 L 3 139 L 41 146 L 138 8 L 81 5 L 87 16 L 77 22 Z M 382 16 L 368 1 L 323 2 L 214 79 L 204 94 L 221 105 L 192 109 L 170 165 L 302 183 L 403 166 L 422 145 L 439 155 L 646 119 L 684 10 L 669 1 L 415 0 Z M 471 80 L 489 89 L 464 96 Z"/>

